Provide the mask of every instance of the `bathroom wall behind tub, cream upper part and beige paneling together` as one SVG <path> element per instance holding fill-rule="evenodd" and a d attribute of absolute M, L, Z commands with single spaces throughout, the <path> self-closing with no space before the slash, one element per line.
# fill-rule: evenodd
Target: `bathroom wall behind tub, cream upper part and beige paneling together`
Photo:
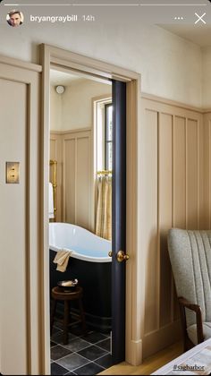
<path fill-rule="evenodd" d="M 57 160 L 56 221 L 95 232 L 94 98 L 109 84 L 79 79 L 58 95 L 51 86 L 50 158 Z M 50 168 L 51 181 L 53 167 Z"/>

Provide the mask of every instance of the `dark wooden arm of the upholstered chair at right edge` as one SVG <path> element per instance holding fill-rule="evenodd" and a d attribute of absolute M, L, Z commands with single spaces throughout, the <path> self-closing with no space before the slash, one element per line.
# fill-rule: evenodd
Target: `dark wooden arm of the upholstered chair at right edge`
<path fill-rule="evenodd" d="M 179 297 L 179 303 L 180 303 L 181 311 L 183 312 L 184 318 L 185 318 L 185 311 L 184 311 L 185 308 L 196 313 L 197 338 L 198 338 L 198 344 L 200 344 L 201 342 L 204 341 L 201 307 L 198 304 L 190 303 L 187 299 L 183 297 Z M 185 319 L 185 325 L 187 329 L 186 319 Z"/>

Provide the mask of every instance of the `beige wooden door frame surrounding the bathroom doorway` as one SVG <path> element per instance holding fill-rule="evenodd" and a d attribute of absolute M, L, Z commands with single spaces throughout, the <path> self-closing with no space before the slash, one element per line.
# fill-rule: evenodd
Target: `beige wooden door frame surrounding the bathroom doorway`
<path fill-rule="evenodd" d="M 41 247 L 43 255 L 40 267 L 43 270 L 43 309 L 40 328 L 44 336 L 43 359 L 44 374 L 49 372 L 49 255 L 48 255 L 48 160 L 49 160 L 49 101 L 50 68 L 72 69 L 78 73 L 95 76 L 101 80 L 115 79 L 127 83 L 127 218 L 126 218 L 126 252 L 130 260 L 126 266 L 126 356 L 132 365 L 142 362 L 141 341 L 141 276 L 139 273 L 139 98 L 140 75 L 113 64 L 106 64 L 95 59 L 81 56 L 58 47 L 42 44 L 41 64 L 43 66 L 42 82 L 42 154 L 40 179 L 43 183 L 41 210 L 43 222 L 41 228 Z"/>

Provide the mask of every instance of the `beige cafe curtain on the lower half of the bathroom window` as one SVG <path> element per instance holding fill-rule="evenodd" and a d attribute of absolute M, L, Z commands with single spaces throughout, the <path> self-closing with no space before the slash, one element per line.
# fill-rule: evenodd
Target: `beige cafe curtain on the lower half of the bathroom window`
<path fill-rule="evenodd" d="M 112 239 L 112 176 L 97 177 L 96 235 Z"/>

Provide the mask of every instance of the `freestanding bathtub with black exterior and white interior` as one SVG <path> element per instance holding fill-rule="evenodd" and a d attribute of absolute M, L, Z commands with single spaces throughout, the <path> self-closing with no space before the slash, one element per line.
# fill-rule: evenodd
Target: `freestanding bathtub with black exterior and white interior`
<path fill-rule="evenodd" d="M 85 228 L 67 223 L 49 223 L 50 287 L 65 279 L 79 280 L 83 287 L 83 304 L 87 323 L 95 329 L 111 329 L 111 261 L 110 241 L 92 234 Z M 56 270 L 53 262 L 59 250 L 72 255 L 64 272 Z"/>

